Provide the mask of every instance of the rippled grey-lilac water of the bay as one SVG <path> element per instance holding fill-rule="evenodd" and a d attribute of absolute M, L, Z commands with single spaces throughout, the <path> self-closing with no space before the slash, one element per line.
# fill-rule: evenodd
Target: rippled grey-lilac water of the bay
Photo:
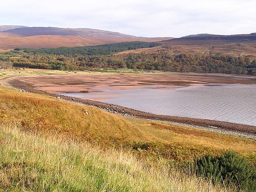
<path fill-rule="evenodd" d="M 228 121 L 256 126 L 256 85 L 221 84 L 190 86 L 175 90 L 133 89 L 95 93 L 61 93 L 72 97 L 94 99 L 154 113 Z M 100 97 L 105 99 L 100 99 Z M 108 97 L 108 99 L 106 99 Z"/>

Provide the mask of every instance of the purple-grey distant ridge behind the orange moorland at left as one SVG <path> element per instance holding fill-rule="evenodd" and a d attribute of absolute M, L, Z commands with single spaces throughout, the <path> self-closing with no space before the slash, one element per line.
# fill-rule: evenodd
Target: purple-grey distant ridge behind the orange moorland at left
<path fill-rule="evenodd" d="M 29 27 L 29 28 L 15 28 L 6 30 L 4 33 L 8 33 L 9 36 L 29 37 L 29 36 L 45 36 L 45 35 L 60 35 L 60 36 L 78 36 L 86 38 L 97 39 L 137 39 L 140 37 L 121 34 L 118 32 L 110 32 L 89 28 L 54 28 L 54 27 Z"/>

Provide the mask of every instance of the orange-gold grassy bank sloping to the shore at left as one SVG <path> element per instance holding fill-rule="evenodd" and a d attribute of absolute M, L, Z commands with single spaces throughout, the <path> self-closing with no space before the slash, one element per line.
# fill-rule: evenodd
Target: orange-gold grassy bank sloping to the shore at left
<path fill-rule="evenodd" d="M 85 112 L 89 115 L 86 115 Z M 0 112 L 4 119 L 14 119 L 24 129 L 68 131 L 70 133 L 127 137 L 140 136 L 135 128 L 119 117 L 94 107 L 86 107 L 56 98 L 0 88 Z"/>

